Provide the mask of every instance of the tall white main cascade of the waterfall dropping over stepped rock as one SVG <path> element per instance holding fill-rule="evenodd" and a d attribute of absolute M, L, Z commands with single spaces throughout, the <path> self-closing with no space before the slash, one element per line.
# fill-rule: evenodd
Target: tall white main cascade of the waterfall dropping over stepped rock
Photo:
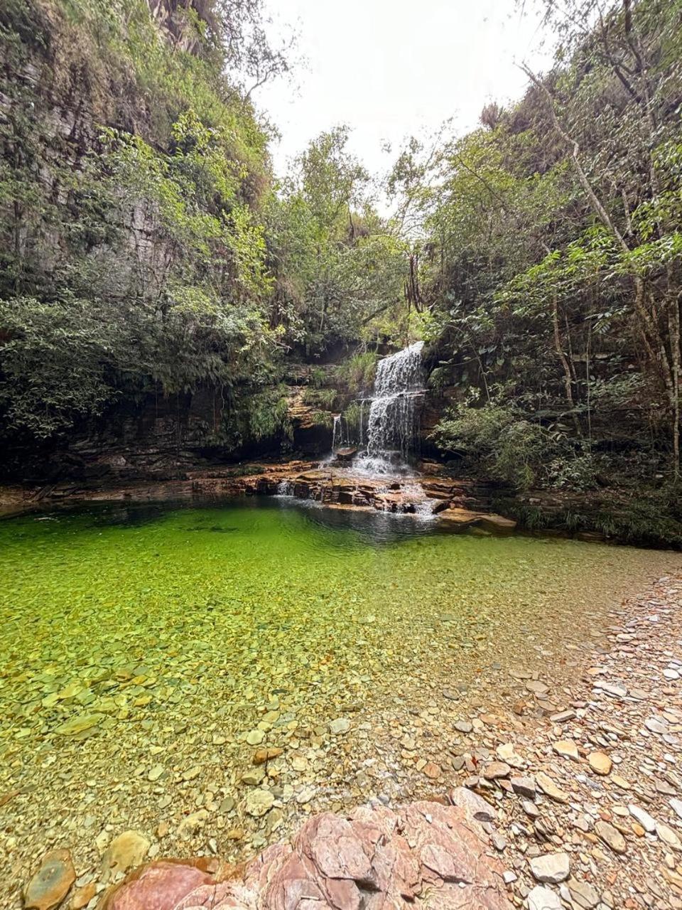
<path fill-rule="evenodd" d="M 424 392 L 423 341 L 380 360 L 367 418 L 366 452 L 360 469 L 386 473 L 405 464 L 415 448 L 416 399 Z"/>

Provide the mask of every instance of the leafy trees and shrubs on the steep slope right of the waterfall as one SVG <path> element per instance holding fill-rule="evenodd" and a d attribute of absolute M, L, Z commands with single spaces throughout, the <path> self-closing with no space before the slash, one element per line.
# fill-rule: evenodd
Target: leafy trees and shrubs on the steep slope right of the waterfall
<path fill-rule="evenodd" d="M 544 440 L 527 461 L 519 430 L 522 485 L 561 484 L 547 459 L 584 473 L 624 451 L 647 452 L 644 480 L 677 480 L 680 5 L 547 0 L 547 16 L 552 70 L 527 70 L 521 102 L 488 106 L 471 134 L 412 140 L 392 176 L 413 226 L 431 387 L 483 409 L 446 416 L 436 440 L 470 450 L 474 423 L 483 437 L 514 411 Z"/>

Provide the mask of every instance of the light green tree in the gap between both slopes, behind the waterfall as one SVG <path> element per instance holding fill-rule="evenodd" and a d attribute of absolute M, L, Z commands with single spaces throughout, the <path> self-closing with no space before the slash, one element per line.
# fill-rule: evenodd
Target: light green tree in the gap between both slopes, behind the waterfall
<path fill-rule="evenodd" d="M 406 244 L 376 215 L 348 130 L 322 133 L 269 209 L 274 324 L 306 356 L 371 339 L 403 302 Z"/>

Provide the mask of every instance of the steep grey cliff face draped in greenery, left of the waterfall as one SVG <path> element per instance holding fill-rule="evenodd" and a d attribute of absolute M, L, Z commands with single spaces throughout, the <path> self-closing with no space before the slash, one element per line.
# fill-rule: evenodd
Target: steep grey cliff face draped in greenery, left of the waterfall
<path fill-rule="evenodd" d="M 281 398 L 265 312 L 266 134 L 224 76 L 213 8 L 0 9 L 5 470 L 104 440 L 237 450 L 250 430 L 223 420 L 237 395 Z"/>

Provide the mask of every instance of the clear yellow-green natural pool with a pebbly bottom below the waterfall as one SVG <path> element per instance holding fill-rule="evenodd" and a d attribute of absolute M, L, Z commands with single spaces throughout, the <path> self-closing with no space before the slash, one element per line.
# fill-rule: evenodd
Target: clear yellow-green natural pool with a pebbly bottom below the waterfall
<path fill-rule="evenodd" d="M 576 672 L 623 595 L 680 565 L 437 529 L 287 499 L 0 521 L 12 899 L 52 846 L 79 872 L 127 828 L 237 855 L 312 810 L 433 793 L 463 705 L 508 703 L 515 668 Z"/>

